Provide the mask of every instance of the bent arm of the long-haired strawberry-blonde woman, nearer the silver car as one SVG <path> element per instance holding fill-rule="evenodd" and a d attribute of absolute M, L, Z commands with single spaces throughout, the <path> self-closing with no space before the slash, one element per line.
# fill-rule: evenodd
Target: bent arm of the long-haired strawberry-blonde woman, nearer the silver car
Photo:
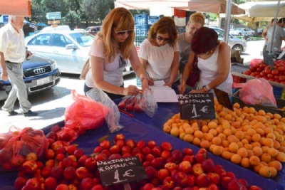
<path fill-rule="evenodd" d="M 116 95 L 137 95 L 139 93 L 138 88 L 135 86 L 129 86 L 128 88 L 118 87 L 112 85 L 104 80 L 104 59 L 90 56 L 91 71 L 93 76 L 93 83 L 96 88 L 104 90 L 108 93 L 113 93 Z"/>

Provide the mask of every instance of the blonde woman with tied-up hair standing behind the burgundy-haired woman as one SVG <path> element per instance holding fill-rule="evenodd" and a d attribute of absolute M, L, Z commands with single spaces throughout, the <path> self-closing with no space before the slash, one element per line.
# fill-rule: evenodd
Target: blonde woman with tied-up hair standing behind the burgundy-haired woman
<path fill-rule="evenodd" d="M 192 56 L 194 56 L 195 54 L 191 52 L 192 38 L 194 36 L 194 33 L 202 26 L 204 26 L 204 15 L 200 12 L 196 12 L 190 16 L 190 19 L 186 26 L 186 32 L 180 33 L 178 35 L 177 41 L 179 45 L 179 72 L 181 80 L 185 65 L 189 60 L 190 54 L 193 54 Z M 192 65 L 192 63 L 190 65 Z M 189 73 L 189 65 L 187 65 L 186 70 L 187 73 Z M 178 87 L 178 89 L 179 88 L 181 88 L 181 85 Z M 185 82 L 185 88 L 187 88 L 187 90 L 190 90 L 193 87 L 187 85 L 187 83 Z"/>

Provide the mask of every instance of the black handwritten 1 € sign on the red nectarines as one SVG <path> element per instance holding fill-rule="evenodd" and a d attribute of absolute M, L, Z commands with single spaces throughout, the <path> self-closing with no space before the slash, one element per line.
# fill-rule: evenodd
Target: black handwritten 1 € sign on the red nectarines
<path fill-rule="evenodd" d="M 98 161 L 97 165 L 103 186 L 147 179 L 138 157 Z"/>

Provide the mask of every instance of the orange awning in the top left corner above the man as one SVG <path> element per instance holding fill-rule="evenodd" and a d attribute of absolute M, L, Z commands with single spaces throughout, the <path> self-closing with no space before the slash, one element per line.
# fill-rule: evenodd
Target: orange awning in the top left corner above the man
<path fill-rule="evenodd" d="M 0 14 L 31 16 L 31 0 L 1 0 Z"/>

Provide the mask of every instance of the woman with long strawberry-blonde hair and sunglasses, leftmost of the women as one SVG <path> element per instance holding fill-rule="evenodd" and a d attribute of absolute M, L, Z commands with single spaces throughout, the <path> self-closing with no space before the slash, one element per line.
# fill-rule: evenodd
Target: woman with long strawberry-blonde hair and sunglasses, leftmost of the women
<path fill-rule="evenodd" d="M 148 88 L 145 69 L 140 64 L 135 49 L 135 22 L 133 15 L 125 8 L 116 8 L 105 17 L 101 31 L 90 47 L 90 70 L 86 75 L 84 92 L 92 88 L 103 90 L 111 100 L 125 95 L 137 95 L 135 85 L 124 88 L 123 70 L 128 59 L 141 80 L 142 91 Z"/>

